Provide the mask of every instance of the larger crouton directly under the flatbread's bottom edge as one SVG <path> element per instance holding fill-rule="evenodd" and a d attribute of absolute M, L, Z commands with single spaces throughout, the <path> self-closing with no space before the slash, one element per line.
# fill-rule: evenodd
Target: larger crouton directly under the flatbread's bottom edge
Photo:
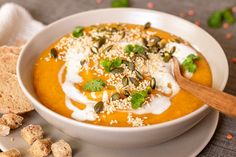
<path fill-rule="evenodd" d="M 2 119 L 11 129 L 16 129 L 22 125 L 22 121 L 24 118 L 14 113 L 7 113 L 2 116 Z"/>

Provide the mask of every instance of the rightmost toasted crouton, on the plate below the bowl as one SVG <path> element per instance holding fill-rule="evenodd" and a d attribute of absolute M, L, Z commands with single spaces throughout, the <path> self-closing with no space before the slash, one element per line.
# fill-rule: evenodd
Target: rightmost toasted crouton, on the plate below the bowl
<path fill-rule="evenodd" d="M 53 143 L 51 149 L 54 157 L 72 157 L 71 147 L 64 140 Z"/>

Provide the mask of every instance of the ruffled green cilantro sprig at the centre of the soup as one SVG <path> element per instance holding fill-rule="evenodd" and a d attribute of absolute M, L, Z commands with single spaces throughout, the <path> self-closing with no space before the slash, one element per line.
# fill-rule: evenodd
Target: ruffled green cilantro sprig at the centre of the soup
<path fill-rule="evenodd" d="M 119 57 L 113 60 L 109 60 L 108 58 L 106 58 L 106 59 L 102 59 L 100 61 L 100 64 L 103 66 L 106 72 L 111 72 L 112 69 L 119 68 L 121 66 L 122 59 Z"/>

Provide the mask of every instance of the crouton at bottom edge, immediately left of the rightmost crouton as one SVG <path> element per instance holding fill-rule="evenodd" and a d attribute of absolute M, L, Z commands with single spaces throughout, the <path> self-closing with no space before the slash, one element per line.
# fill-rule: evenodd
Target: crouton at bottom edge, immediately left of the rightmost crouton
<path fill-rule="evenodd" d="M 29 148 L 33 157 L 45 157 L 51 153 L 52 142 L 49 138 L 36 140 Z"/>

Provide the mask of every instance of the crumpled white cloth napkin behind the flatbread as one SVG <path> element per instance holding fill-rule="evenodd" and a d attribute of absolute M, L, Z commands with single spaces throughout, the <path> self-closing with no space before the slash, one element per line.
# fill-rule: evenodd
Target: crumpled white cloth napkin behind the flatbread
<path fill-rule="evenodd" d="M 0 8 L 0 46 L 18 46 L 39 32 L 44 25 L 23 7 L 6 3 Z"/>

